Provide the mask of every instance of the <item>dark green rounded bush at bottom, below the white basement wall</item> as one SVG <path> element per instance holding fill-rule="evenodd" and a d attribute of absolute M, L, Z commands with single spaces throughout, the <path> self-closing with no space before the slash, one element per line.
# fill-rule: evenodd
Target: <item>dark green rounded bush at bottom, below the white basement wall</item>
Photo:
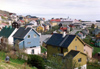
<path fill-rule="evenodd" d="M 44 60 L 42 59 L 42 57 L 40 57 L 38 55 L 29 55 L 27 63 L 30 66 L 37 67 L 38 69 L 45 69 Z"/>

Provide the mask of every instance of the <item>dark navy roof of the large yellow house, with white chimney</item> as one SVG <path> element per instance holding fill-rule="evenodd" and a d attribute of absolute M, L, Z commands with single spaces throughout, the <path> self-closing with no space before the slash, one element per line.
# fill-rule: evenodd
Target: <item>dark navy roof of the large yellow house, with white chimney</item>
<path fill-rule="evenodd" d="M 63 34 L 53 34 L 51 38 L 46 42 L 48 45 L 65 47 L 67 48 L 69 44 L 73 41 L 76 35 L 66 35 L 63 37 Z"/>

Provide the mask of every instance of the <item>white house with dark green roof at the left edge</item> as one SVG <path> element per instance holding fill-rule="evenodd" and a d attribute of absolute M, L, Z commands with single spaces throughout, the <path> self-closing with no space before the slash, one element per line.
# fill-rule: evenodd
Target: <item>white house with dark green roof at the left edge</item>
<path fill-rule="evenodd" d="M 12 28 L 11 26 L 5 26 L 0 32 L 0 43 L 6 43 L 13 45 L 13 34 L 17 31 L 17 28 Z M 3 38 L 4 37 L 4 38 Z M 7 38 L 7 40 L 5 39 Z"/>

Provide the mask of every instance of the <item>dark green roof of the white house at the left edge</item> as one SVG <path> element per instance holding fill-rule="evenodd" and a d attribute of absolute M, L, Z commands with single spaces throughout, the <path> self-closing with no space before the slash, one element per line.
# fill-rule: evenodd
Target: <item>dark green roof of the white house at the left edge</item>
<path fill-rule="evenodd" d="M 14 30 L 15 30 L 15 28 L 4 27 L 4 28 L 0 31 L 0 37 L 3 36 L 3 37 L 5 37 L 5 38 L 8 38 Z"/>

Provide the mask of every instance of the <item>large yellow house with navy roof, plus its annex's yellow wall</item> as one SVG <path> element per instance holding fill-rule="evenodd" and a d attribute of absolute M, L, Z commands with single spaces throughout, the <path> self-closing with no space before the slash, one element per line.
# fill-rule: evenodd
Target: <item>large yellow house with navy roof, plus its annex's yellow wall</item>
<path fill-rule="evenodd" d="M 73 60 L 76 60 L 77 63 L 86 68 L 87 56 L 84 54 L 85 43 L 77 35 L 53 34 L 46 44 L 47 57 L 50 55 L 55 56 L 56 54 L 62 57 L 69 54 L 73 56 L 74 54 L 71 54 L 70 52 L 72 50 L 78 51 L 78 54 L 73 58 Z M 78 59 L 80 58 L 81 63 L 78 62 Z"/>

